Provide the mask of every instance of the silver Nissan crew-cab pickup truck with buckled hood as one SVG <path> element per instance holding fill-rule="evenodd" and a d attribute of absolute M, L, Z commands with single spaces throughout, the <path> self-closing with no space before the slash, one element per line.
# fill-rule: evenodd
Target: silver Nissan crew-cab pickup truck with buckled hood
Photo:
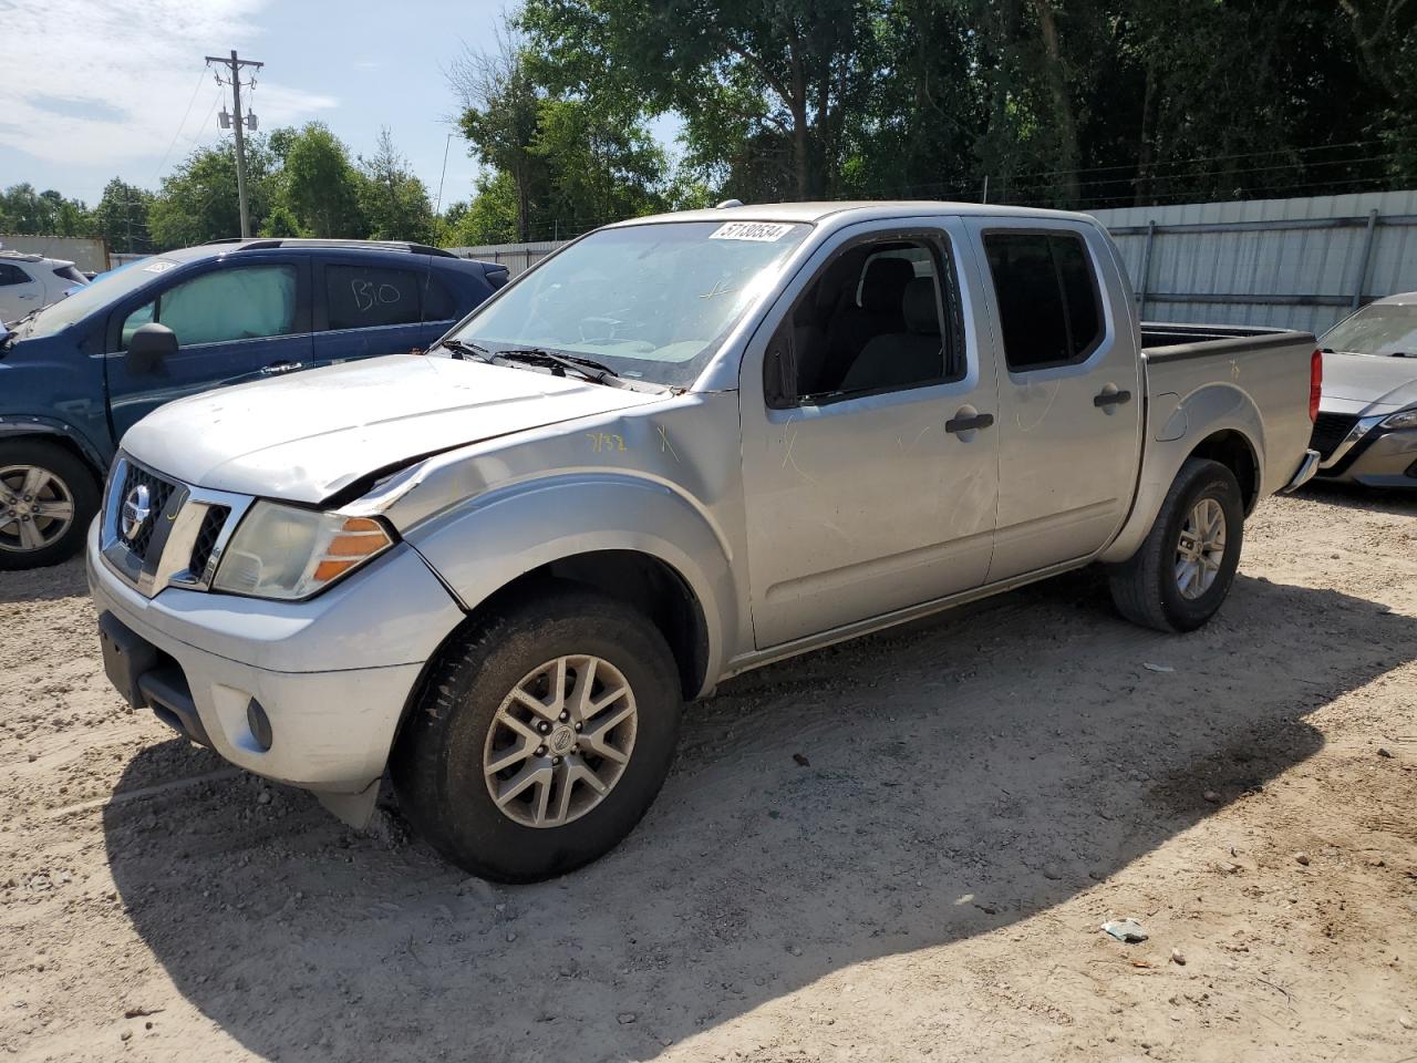
<path fill-rule="evenodd" d="M 1080 214 L 784 204 L 598 230 L 427 354 L 173 403 L 88 544 L 108 675 L 463 867 L 623 838 L 684 700 L 1101 563 L 1204 624 L 1315 469 L 1312 336 L 1142 327 Z"/>

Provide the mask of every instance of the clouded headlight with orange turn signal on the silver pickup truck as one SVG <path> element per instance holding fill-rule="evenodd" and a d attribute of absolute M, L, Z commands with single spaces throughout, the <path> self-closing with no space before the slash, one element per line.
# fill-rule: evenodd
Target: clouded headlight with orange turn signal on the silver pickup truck
<path fill-rule="evenodd" d="M 309 598 L 394 544 L 371 517 L 256 502 L 221 556 L 213 590 Z"/>

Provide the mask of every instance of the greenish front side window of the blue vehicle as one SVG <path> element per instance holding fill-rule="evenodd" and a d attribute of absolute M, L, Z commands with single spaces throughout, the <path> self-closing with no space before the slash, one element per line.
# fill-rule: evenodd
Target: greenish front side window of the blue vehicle
<path fill-rule="evenodd" d="M 230 343 L 295 332 L 295 266 L 217 269 L 174 285 L 123 320 L 122 344 L 157 322 L 180 346 Z"/>

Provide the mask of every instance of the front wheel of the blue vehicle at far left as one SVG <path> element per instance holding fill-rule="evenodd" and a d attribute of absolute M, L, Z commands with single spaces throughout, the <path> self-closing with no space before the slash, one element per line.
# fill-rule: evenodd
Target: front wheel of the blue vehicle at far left
<path fill-rule="evenodd" d="M 98 478 L 64 446 L 44 439 L 0 442 L 0 570 L 74 557 L 98 500 Z"/>

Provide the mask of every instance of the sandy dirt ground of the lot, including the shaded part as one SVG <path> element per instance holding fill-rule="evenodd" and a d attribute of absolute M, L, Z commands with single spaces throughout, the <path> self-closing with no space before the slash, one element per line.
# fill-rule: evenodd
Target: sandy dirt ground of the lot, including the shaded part
<path fill-rule="evenodd" d="M 0 1050 L 1417 1060 L 1414 517 L 1265 503 L 1185 638 L 1080 574 L 743 676 L 516 889 L 126 712 L 82 568 L 0 575 Z"/>

